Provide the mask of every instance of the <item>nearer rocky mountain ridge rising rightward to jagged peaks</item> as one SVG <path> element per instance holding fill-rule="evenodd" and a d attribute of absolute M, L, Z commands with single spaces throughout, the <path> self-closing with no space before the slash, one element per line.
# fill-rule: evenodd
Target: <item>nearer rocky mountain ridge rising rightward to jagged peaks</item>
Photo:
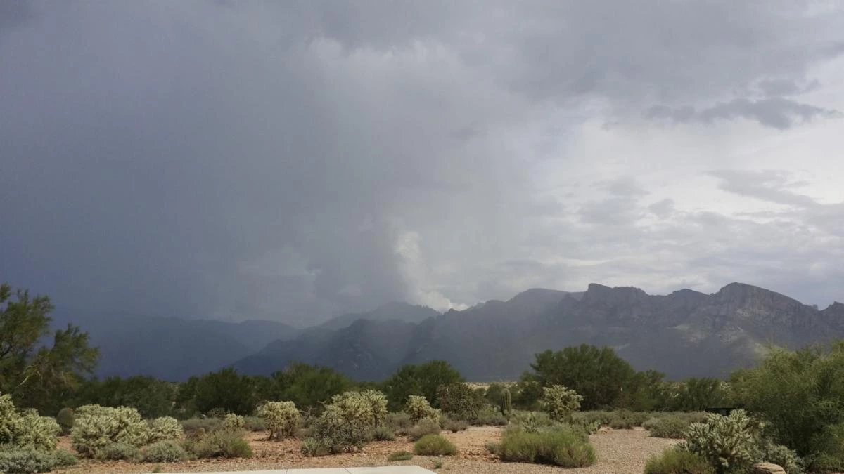
<path fill-rule="evenodd" d="M 844 304 L 820 311 L 742 283 L 715 294 L 683 289 L 668 295 L 592 284 L 578 294 L 528 290 L 506 302 L 449 311 L 413 330 L 381 321 L 367 321 L 365 328 L 335 331 L 305 352 L 307 344 L 298 340 L 273 343 L 278 352 L 263 350 L 260 364 L 256 358 L 241 362 L 262 374 L 284 361 L 318 361 L 371 380 L 401 364 L 444 358 L 470 380 L 511 380 L 528 368 L 534 353 L 588 343 L 614 347 L 636 369 L 657 369 L 671 378 L 724 376 L 753 364 L 768 343 L 803 347 L 844 337 Z M 379 338 L 406 345 L 403 356 L 392 358 L 398 349 L 376 351 Z"/>

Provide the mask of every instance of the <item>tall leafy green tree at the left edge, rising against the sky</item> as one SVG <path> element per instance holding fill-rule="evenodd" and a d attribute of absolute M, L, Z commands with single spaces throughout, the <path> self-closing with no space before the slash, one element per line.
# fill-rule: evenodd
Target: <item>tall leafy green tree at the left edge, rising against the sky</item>
<path fill-rule="evenodd" d="M 8 283 L 0 284 L 0 392 L 12 394 L 22 407 L 52 415 L 94 371 L 99 351 L 89 347 L 88 333 L 73 325 L 41 346 L 50 332 L 51 310 L 48 297 L 30 298 L 27 290 L 13 292 Z"/>

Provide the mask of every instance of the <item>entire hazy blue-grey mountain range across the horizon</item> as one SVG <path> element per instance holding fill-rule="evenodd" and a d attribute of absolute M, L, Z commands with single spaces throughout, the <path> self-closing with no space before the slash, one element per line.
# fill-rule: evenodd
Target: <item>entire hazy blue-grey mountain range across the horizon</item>
<path fill-rule="evenodd" d="M 270 374 L 297 361 L 381 380 L 403 364 L 441 358 L 468 380 L 514 380 L 534 353 L 587 343 L 614 347 L 636 369 L 680 379 L 725 376 L 754 364 L 771 344 L 798 348 L 844 337 L 844 304 L 819 310 L 744 283 L 668 295 L 592 283 L 584 292 L 533 288 L 443 314 L 391 303 L 306 329 L 267 320 L 54 315 L 57 325 L 68 321 L 100 347 L 100 376 L 184 380 L 225 366 Z"/>

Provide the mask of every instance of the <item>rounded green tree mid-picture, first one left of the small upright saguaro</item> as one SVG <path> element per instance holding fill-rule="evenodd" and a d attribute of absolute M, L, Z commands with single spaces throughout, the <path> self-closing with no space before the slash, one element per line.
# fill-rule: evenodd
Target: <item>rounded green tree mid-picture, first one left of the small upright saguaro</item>
<path fill-rule="evenodd" d="M 463 376 L 451 364 L 444 360 L 432 360 L 425 364 L 404 365 L 382 382 L 381 391 L 387 394 L 387 407 L 391 412 L 401 410 L 411 395 L 425 396 L 431 406 L 440 407 L 437 388 L 463 381 Z"/>

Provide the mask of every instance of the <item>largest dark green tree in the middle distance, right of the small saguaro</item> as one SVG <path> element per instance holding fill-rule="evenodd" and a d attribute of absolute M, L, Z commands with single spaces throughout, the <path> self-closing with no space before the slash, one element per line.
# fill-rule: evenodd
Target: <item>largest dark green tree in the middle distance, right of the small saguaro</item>
<path fill-rule="evenodd" d="M 583 396 L 582 408 L 594 410 L 617 407 L 625 391 L 636 386 L 636 370 L 610 347 L 582 344 L 557 352 L 536 354 L 533 373 L 522 375 L 524 381 L 539 385 L 565 385 Z"/>

